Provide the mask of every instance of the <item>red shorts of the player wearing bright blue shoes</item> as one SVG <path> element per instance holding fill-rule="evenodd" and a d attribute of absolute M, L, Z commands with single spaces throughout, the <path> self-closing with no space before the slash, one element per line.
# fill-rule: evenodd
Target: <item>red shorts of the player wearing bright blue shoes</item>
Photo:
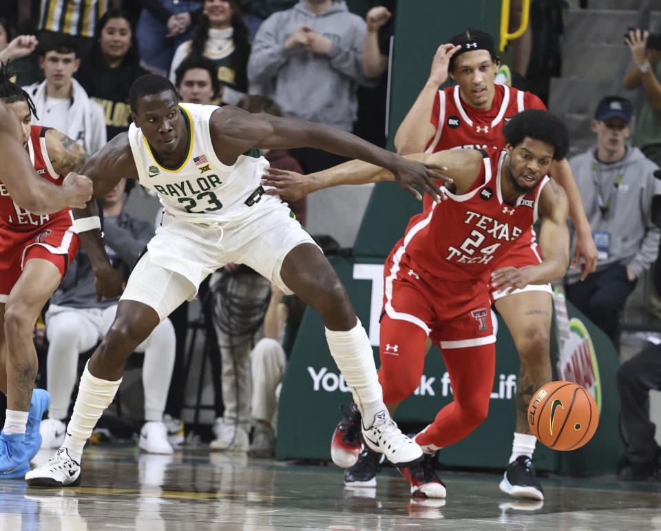
<path fill-rule="evenodd" d="M 81 240 L 71 227 L 72 220 L 71 213 L 67 212 L 28 231 L 0 224 L 0 303 L 7 302 L 25 262 L 32 258 L 52 262 L 64 276 L 81 246 Z"/>

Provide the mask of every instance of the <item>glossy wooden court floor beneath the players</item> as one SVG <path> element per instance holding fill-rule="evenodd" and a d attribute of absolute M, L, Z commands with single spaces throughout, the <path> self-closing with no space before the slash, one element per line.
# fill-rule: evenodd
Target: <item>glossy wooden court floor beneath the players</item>
<path fill-rule="evenodd" d="M 545 478 L 537 502 L 503 494 L 500 475 L 441 477 L 447 500 L 418 500 L 389 468 L 376 488 L 350 490 L 334 466 L 99 446 L 76 487 L 0 481 L 0 530 L 661 530 L 659 482 Z"/>

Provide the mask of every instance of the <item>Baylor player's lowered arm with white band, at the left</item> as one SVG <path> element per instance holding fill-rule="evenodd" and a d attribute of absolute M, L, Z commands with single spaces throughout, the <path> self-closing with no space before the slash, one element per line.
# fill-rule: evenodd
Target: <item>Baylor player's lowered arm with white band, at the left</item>
<path fill-rule="evenodd" d="M 124 289 L 124 280 L 108 260 L 101 240 L 101 222 L 95 198 L 102 198 L 111 191 L 121 178 L 138 178 L 138 170 L 131 154 L 128 136 L 119 134 L 87 160 L 83 171 L 89 174 L 94 185 L 90 202 L 83 209 L 73 209 L 74 230 L 81 238 L 94 270 L 96 300 L 116 298 Z"/>

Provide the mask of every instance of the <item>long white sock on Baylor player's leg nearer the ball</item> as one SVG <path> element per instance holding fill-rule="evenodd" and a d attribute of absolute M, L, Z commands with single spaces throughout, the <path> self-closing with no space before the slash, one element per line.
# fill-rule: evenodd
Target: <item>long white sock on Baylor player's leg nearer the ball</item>
<path fill-rule="evenodd" d="M 385 410 L 386 405 L 374 364 L 372 345 L 365 329 L 360 320 L 348 331 L 326 329 L 326 341 L 337 368 L 351 389 L 363 416 L 364 426 L 372 426 L 375 414 Z"/>

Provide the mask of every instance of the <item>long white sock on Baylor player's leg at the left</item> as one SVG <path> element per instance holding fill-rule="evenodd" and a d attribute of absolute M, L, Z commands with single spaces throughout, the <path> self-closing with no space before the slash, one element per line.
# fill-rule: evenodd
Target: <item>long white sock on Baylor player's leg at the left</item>
<path fill-rule="evenodd" d="M 78 463 L 81 462 L 85 442 L 92 435 L 96 422 L 105 408 L 110 405 L 119 384 L 122 383 L 121 378 L 116 382 L 110 382 L 93 376 L 87 368 L 89 364 L 90 362 L 85 364 L 85 371 L 78 387 L 78 397 L 74 404 L 74 413 L 67 426 L 67 436 L 62 445 L 69 452 L 69 457 Z"/>

